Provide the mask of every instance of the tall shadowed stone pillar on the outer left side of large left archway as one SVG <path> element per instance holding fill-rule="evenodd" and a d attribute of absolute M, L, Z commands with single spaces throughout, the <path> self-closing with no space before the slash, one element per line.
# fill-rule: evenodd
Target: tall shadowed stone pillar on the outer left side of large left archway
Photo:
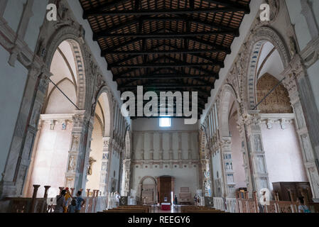
<path fill-rule="evenodd" d="M 22 196 L 23 194 L 50 75 L 45 67 L 40 70 L 32 66 L 28 72 L 11 148 L 2 173 L 0 197 Z"/>

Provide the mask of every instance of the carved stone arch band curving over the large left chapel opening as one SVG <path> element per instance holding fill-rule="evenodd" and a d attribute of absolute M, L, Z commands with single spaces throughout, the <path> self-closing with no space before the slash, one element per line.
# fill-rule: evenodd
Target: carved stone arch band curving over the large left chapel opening
<path fill-rule="evenodd" d="M 86 102 L 89 100 L 87 97 L 90 96 L 86 86 L 86 84 L 89 84 L 89 78 L 87 78 L 86 75 L 90 74 L 90 72 L 88 72 L 88 69 L 90 68 L 88 62 L 90 62 L 90 60 L 85 57 L 86 47 L 81 37 L 82 33 L 77 28 L 70 26 L 60 28 L 48 40 L 48 48 L 45 50 L 43 61 L 48 69 L 50 69 L 55 50 L 58 49 L 58 46 L 63 43 L 63 41 L 70 43 L 72 54 L 75 57 L 75 66 L 77 70 L 77 106 L 80 109 L 86 109 Z"/>

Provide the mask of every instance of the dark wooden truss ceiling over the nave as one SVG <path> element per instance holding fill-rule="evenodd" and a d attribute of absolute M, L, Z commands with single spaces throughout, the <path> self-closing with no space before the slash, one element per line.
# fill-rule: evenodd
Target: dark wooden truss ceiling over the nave
<path fill-rule="evenodd" d="M 120 92 L 214 89 L 250 0 L 80 0 Z"/>

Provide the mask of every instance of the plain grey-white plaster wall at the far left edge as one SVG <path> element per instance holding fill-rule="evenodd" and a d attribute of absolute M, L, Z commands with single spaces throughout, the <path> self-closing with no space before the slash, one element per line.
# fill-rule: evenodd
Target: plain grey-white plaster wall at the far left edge
<path fill-rule="evenodd" d="M 16 62 L 16 67 L 11 67 L 8 64 L 9 57 L 9 52 L 0 45 L 0 172 L 4 171 L 6 165 L 28 75 L 26 68 L 19 62 Z"/>

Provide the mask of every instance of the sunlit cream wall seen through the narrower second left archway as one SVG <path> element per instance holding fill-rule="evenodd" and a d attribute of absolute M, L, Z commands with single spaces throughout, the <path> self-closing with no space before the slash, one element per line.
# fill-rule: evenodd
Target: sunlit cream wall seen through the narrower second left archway
<path fill-rule="evenodd" d="M 96 117 L 94 117 L 90 157 L 96 160 L 92 165 L 92 175 L 87 175 L 86 188 L 91 189 L 92 192 L 99 189 L 103 157 L 102 128 Z"/>

